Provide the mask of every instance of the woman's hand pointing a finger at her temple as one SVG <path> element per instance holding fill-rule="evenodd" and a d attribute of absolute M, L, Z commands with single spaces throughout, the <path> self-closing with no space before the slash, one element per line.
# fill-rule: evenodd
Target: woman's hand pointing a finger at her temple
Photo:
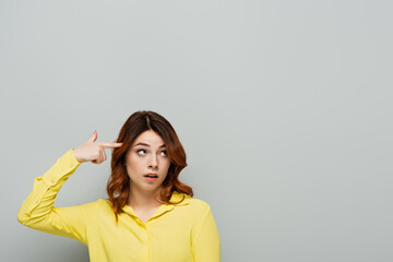
<path fill-rule="evenodd" d="M 120 147 L 122 143 L 110 142 L 95 142 L 97 132 L 94 131 L 93 135 L 80 147 L 73 150 L 75 159 L 80 163 L 92 162 L 93 164 L 102 164 L 107 159 L 105 150 Z"/>

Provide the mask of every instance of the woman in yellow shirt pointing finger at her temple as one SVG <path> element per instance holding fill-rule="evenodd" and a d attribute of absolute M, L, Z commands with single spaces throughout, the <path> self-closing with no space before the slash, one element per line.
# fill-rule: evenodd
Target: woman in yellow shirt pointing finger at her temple
<path fill-rule="evenodd" d="M 153 111 L 132 114 L 116 143 L 97 133 L 58 158 L 23 202 L 17 221 L 88 247 L 92 262 L 218 262 L 221 246 L 210 205 L 192 198 L 178 176 L 187 166 L 171 124 Z M 85 162 L 102 164 L 114 148 L 108 199 L 56 207 L 62 183 Z"/>

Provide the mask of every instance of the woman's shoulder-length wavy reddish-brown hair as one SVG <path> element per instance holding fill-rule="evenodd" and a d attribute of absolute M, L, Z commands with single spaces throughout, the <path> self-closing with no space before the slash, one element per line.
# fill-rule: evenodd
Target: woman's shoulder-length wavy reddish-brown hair
<path fill-rule="evenodd" d="M 162 136 L 170 160 L 167 177 L 163 181 L 162 199 L 168 204 L 181 203 L 182 200 L 178 203 L 169 202 L 174 191 L 193 196 L 192 188 L 178 179 L 180 171 L 187 167 L 187 157 L 175 129 L 168 120 L 157 112 L 136 111 L 127 119 L 117 140 L 114 141 L 123 143 L 121 147 L 115 147 L 112 151 L 111 174 L 107 182 L 108 200 L 114 209 L 116 222 L 118 222 L 118 215 L 122 212 L 121 209 L 127 204 L 130 195 L 130 178 L 126 169 L 126 154 L 136 138 L 147 130 L 153 130 Z"/>

